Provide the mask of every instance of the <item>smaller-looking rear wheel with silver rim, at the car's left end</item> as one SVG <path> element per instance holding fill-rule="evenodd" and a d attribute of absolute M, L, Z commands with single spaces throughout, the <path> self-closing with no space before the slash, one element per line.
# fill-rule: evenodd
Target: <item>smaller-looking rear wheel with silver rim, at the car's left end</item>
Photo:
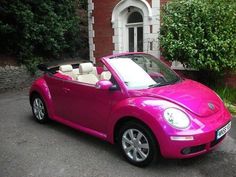
<path fill-rule="evenodd" d="M 32 96 L 31 107 L 34 118 L 39 123 L 46 123 L 48 119 L 47 108 L 42 97 L 38 94 Z"/>

